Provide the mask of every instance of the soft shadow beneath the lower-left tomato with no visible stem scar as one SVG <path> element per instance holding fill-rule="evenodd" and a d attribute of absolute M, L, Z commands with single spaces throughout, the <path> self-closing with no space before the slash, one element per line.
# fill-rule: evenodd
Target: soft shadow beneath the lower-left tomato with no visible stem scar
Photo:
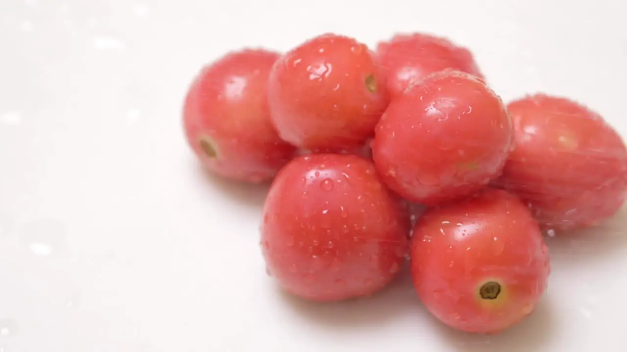
<path fill-rule="evenodd" d="M 408 268 L 376 294 L 349 299 L 337 303 L 316 303 L 297 298 L 280 288 L 281 299 L 295 309 L 300 316 L 324 328 L 337 329 L 372 328 L 398 318 L 399 314 L 420 314 L 424 311 L 414 291 Z"/>

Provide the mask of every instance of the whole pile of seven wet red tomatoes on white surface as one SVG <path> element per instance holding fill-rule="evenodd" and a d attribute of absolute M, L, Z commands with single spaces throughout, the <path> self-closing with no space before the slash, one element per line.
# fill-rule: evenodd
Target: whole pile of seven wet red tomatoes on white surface
<path fill-rule="evenodd" d="M 626 196 L 627 150 L 602 116 L 540 93 L 506 105 L 468 49 L 429 34 L 233 51 L 196 76 L 183 115 L 210 172 L 271 182 L 261 251 L 283 289 L 369 296 L 409 258 L 419 300 L 462 331 L 532 313 L 543 234 L 598 224 Z"/>

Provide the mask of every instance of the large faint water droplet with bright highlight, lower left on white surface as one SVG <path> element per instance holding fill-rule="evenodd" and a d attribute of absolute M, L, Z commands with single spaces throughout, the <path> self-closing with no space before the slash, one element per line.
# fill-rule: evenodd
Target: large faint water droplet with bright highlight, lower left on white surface
<path fill-rule="evenodd" d="M 49 257 L 63 251 L 65 226 L 57 220 L 39 220 L 24 226 L 20 243 L 37 256 Z"/>

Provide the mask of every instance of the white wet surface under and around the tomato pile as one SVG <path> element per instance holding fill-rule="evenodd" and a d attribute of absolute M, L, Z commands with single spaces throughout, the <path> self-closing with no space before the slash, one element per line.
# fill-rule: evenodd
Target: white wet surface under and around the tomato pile
<path fill-rule="evenodd" d="M 498 336 L 444 328 L 408 280 L 307 304 L 265 274 L 264 190 L 203 176 L 180 110 L 230 49 L 432 31 L 469 46 L 505 100 L 571 96 L 627 135 L 623 4 L 1 1 L 0 351 L 621 350 L 627 212 L 550 241 L 544 301 Z"/>

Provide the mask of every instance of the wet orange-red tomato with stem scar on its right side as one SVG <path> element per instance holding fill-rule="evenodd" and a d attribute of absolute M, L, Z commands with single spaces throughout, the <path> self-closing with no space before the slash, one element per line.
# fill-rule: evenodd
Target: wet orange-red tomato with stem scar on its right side
<path fill-rule="evenodd" d="M 324 34 L 289 51 L 268 83 L 272 120 L 305 150 L 353 150 L 372 136 L 387 105 L 381 66 L 365 44 Z"/>

